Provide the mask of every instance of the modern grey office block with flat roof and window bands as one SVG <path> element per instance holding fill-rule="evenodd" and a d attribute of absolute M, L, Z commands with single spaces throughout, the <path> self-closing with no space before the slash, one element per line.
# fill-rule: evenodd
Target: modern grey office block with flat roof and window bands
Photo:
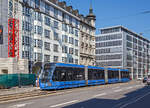
<path fill-rule="evenodd" d="M 102 28 L 96 36 L 96 65 L 127 68 L 131 78 L 150 72 L 150 41 L 123 26 Z"/>

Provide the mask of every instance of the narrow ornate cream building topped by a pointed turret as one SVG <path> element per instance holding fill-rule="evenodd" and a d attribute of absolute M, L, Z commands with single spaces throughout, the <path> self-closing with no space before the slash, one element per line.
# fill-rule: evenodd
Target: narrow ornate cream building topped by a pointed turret
<path fill-rule="evenodd" d="M 86 18 L 80 16 L 80 64 L 95 65 L 95 18 L 92 7 Z"/>

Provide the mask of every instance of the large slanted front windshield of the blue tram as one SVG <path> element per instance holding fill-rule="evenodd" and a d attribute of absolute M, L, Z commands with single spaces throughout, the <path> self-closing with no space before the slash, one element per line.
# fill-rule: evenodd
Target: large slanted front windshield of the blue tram
<path fill-rule="evenodd" d="M 41 73 L 41 81 L 42 82 L 48 82 L 51 78 L 52 75 L 52 70 L 53 70 L 53 64 L 45 64 L 43 72 Z"/>

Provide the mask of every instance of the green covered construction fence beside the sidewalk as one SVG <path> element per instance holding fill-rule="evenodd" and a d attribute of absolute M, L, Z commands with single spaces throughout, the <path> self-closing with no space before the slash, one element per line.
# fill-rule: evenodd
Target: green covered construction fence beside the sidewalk
<path fill-rule="evenodd" d="M 35 74 L 1 74 L 0 88 L 35 85 Z"/>

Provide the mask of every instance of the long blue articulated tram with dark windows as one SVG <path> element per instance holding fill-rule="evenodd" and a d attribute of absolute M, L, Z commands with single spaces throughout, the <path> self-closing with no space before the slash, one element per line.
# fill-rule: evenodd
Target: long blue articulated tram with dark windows
<path fill-rule="evenodd" d="M 50 90 L 127 81 L 129 71 L 126 69 L 46 63 L 39 84 L 42 90 Z"/>

